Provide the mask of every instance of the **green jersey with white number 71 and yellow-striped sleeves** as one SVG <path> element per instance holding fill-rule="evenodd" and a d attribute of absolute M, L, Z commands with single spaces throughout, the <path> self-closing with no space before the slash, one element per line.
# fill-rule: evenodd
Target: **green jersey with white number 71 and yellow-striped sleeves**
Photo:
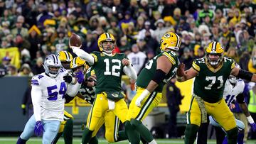
<path fill-rule="evenodd" d="M 198 71 L 194 81 L 193 93 L 204 101 L 215 103 L 223 98 L 225 82 L 235 67 L 235 61 L 230 57 L 223 57 L 223 62 L 217 69 L 208 64 L 206 57 L 193 61 L 193 69 Z"/>

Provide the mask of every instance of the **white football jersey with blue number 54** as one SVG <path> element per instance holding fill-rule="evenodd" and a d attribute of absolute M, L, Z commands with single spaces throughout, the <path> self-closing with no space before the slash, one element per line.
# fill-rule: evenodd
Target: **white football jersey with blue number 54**
<path fill-rule="evenodd" d="M 63 121 L 65 93 L 67 84 L 63 76 L 67 71 L 61 70 L 57 77 L 52 78 L 45 72 L 38 74 L 31 79 L 32 87 L 39 87 L 41 96 L 41 119 Z"/>

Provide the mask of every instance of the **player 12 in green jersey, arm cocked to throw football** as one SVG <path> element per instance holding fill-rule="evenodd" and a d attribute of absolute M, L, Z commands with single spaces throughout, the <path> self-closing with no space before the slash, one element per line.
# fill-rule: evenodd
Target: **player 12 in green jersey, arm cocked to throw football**
<path fill-rule="evenodd" d="M 98 46 L 101 52 L 87 52 L 80 49 L 81 45 L 76 45 L 78 35 L 72 35 L 70 39 L 70 48 L 76 55 L 86 60 L 86 62 L 95 70 L 97 77 L 96 98 L 90 111 L 90 120 L 83 133 L 82 143 L 88 143 L 93 131 L 98 123 L 108 112 L 113 112 L 122 123 L 126 123 L 128 112 L 127 104 L 124 101 L 122 93 L 121 77 L 122 72 L 131 79 L 137 79 L 137 74 L 124 54 L 113 54 L 115 40 L 110 33 L 102 33 L 98 39 Z M 74 43 L 73 43 L 74 42 Z M 132 128 L 125 126 L 125 131 L 133 131 Z M 118 140 L 123 140 L 123 135 L 119 134 Z"/>

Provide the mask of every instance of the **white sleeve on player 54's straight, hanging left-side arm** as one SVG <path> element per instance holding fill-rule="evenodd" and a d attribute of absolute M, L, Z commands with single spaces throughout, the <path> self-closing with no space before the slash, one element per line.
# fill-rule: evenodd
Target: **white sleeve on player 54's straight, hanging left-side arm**
<path fill-rule="evenodd" d="M 34 111 L 36 121 L 41 121 L 41 97 L 42 97 L 41 88 L 38 86 L 32 86 L 31 98 L 32 98 L 33 111 Z"/>

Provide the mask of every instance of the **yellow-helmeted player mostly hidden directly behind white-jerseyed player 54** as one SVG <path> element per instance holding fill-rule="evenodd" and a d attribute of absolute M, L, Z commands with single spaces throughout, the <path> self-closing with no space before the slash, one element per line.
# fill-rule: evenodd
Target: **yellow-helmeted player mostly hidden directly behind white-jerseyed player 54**
<path fill-rule="evenodd" d="M 69 74 L 72 74 L 70 69 L 70 62 L 73 60 L 73 56 L 70 54 L 70 52 L 60 51 L 58 52 L 57 56 L 60 59 L 61 65 L 63 67 L 62 71 L 67 71 Z M 67 77 L 67 75 L 63 77 L 65 82 L 68 82 Z M 75 81 L 73 84 L 75 84 Z M 65 110 L 64 121 L 60 123 L 60 128 L 58 134 L 54 138 L 53 144 L 57 143 L 61 135 L 63 135 L 65 144 L 73 143 L 73 116 Z"/>

